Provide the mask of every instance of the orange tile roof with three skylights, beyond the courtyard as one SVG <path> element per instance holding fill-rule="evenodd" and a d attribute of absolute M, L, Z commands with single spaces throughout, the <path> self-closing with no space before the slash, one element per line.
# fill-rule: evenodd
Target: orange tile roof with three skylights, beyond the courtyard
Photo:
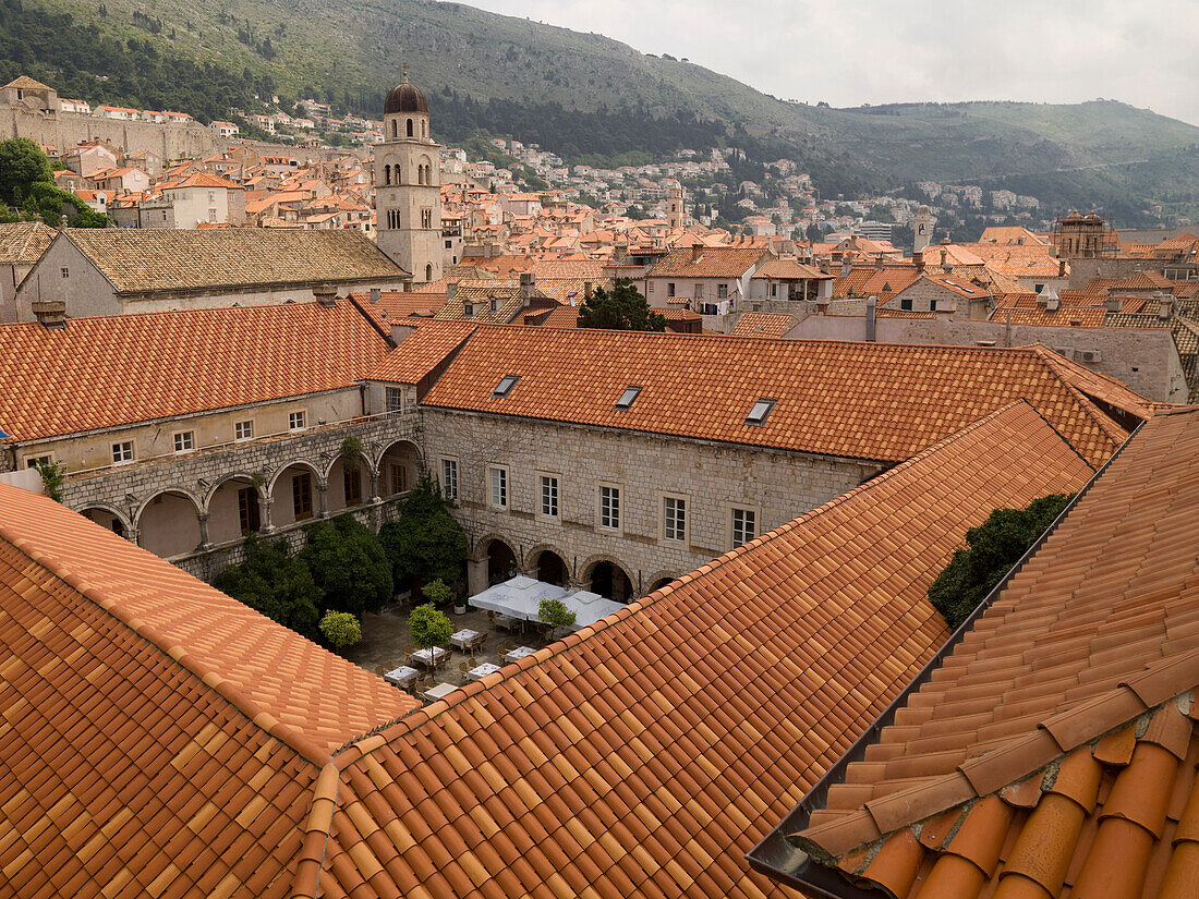
<path fill-rule="evenodd" d="M 1054 356 L 1043 348 L 481 327 L 424 403 L 900 460 L 1024 398 L 1087 460 L 1103 461 L 1126 430 L 1074 386 L 1089 384 L 1091 373 Z M 496 399 L 492 391 L 505 374 L 523 378 L 511 394 Z M 641 385 L 641 394 L 633 408 L 617 411 L 616 398 L 629 384 Z M 1104 396 L 1110 391 L 1119 410 L 1144 417 L 1139 412 L 1151 406 L 1115 384 L 1104 384 Z M 747 426 L 751 406 L 763 397 L 778 404 L 765 424 Z"/>

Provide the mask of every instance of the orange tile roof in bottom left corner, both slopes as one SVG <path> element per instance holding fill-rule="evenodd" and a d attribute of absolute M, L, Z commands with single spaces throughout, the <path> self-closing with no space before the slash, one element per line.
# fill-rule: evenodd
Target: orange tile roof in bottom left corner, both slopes
<path fill-rule="evenodd" d="M 283 899 L 320 766 L 416 705 L 2 484 L 0 609 L 5 895 Z"/>

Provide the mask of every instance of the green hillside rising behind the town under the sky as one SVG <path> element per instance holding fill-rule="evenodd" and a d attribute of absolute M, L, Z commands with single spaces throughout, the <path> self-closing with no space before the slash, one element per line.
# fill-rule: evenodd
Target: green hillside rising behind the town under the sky
<path fill-rule="evenodd" d="M 1099 205 L 1127 224 L 1153 203 L 1199 211 L 1199 128 L 1117 102 L 799 105 L 598 35 L 430 0 L 36 1 L 108 49 L 80 52 L 61 28 L 58 42 L 0 34 L 0 76 L 28 71 L 86 99 L 207 93 L 188 109 L 204 116 L 277 92 L 378 115 L 406 64 L 448 140 L 511 134 L 572 161 L 731 144 L 759 162 L 796 159 L 825 195 L 935 180 Z M 0 0 L 0 30 L 34 2 Z M 141 82 L 110 71 L 131 38 L 129 66 L 149 54 L 170 71 Z"/>

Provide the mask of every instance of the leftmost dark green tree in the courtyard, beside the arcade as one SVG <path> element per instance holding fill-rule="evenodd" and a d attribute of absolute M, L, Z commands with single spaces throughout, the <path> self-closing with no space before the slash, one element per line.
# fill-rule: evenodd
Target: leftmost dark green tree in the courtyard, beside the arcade
<path fill-rule="evenodd" d="M 246 561 L 222 571 L 212 586 L 296 633 L 308 638 L 318 634 L 317 604 L 324 592 L 308 566 L 291 556 L 282 539 L 264 541 L 249 535 Z"/>

